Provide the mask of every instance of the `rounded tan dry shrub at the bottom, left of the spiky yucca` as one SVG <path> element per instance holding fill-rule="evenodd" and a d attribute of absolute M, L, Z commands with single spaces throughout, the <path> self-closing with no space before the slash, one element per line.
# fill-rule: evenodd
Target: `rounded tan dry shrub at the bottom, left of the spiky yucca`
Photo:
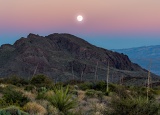
<path fill-rule="evenodd" d="M 23 110 L 28 112 L 30 115 L 45 115 L 47 113 L 47 110 L 36 102 L 28 102 L 24 105 Z"/>

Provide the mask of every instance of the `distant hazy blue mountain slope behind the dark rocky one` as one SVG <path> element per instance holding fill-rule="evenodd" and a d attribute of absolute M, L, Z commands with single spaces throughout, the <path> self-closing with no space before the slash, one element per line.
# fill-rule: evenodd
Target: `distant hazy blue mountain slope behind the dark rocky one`
<path fill-rule="evenodd" d="M 160 45 L 114 50 L 129 56 L 132 62 L 160 75 Z"/>

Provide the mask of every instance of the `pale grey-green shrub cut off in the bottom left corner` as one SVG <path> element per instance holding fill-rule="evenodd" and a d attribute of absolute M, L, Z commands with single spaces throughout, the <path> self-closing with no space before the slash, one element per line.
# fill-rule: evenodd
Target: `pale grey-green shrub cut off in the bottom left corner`
<path fill-rule="evenodd" d="M 0 109 L 0 115 L 29 115 L 28 113 L 20 110 L 18 107 L 10 106 Z"/>

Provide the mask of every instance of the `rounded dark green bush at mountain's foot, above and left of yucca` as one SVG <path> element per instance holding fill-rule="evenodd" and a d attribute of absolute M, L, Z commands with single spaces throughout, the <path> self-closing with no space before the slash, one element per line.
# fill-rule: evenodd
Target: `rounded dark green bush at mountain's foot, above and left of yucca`
<path fill-rule="evenodd" d="M 31 84 L 37 87 L 47 87 L 50 88 L 53 86 L 53 80 L 45 75 L 36 75 L 31 79 Z"/>

